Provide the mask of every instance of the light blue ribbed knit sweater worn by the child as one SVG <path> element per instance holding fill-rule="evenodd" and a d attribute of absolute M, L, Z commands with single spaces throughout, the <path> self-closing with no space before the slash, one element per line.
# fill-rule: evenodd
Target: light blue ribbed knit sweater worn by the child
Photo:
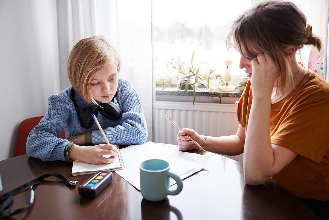
<path fill-rule="evenodd" d="M 93 123 L 88 130 L 81 127 L 70 99 L 71 87 L 49 97 L 48 111 L 27 138 L 28 155 L 43 161 L 65 161 L 64 149 L 69 141 L 58 138 L 63 128 L 66 138 L 92 131 L 91 140 L 94 145 L 106 143 L 96 123 Z M 82 109 L 90 106 L 77 92 L 75 101 Z M 147 139 L 147 127 L 142 105 L 137 91 L 126 79 L 118 81 L 117 102 L 122 110 L 122 115 L 118 120 L 111 121 L 101 113 L 97 115 L 97 120 L 107 139 L 110 143 L 117 144 L 144 143 Z"/>

